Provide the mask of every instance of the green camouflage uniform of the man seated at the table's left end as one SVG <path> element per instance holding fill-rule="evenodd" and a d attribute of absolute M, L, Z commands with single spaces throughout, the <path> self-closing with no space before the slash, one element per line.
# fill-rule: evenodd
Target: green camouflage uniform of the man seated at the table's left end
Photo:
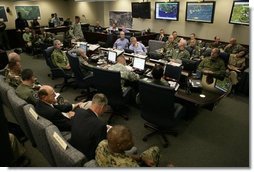
<path fill-rule="evenodd" d="M 51 54 L 51 59 L 54 65 L 66 69 L 66 66 L 69 64 L 69 60 L 62 50 L 54 50 Z"/>

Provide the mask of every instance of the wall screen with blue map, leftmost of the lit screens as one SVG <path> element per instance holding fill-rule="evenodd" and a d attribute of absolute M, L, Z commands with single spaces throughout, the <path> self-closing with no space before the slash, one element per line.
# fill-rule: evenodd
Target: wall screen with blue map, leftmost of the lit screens
<path fill-rule="evenodd" d="M 179 2 L 156 2 L 155 19 L 178 20 Z"/>

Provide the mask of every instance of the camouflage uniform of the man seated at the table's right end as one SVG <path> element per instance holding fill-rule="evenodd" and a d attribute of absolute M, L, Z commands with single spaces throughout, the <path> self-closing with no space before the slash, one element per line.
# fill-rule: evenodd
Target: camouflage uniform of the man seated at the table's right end
<path fill-rule="evenodd" d="M 198 65 L 198 70 L 203 71 L 203 70 L 210 70 L 214 72 L 214 76 L 224 76 L 226 69 L 225 69 L 225 64 L 224 61 L 221 60 L 219 57 L 217 57 L 216 60 L 212 60 L 211 57 L 207 57 L 204 60 L 200 62 Z"/>

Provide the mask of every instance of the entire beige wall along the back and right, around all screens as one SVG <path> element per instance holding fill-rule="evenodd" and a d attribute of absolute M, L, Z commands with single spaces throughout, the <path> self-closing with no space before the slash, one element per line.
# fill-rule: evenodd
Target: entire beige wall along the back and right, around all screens
<path fill-rule="evenodd" d="M 140 2 L 140 0 L 136 0 Z M 157 0 L 159 1 L 159 0 Z M 162 1 L 162 0 L 161 0 Z M 230 37 L 236 37 L 239 43 L 249 44 L 249 26 L 232 25 L 228 23 L 233 0 L 217 0 L 213 24 L 185 22 L 185 4 L 187 0 L 180 1 L 179 21 L 163 21 L 154 19 L 154 2 L 151 0 L 151 19 L 133 19 L 133 29 L 144 30 L 148 27 L 154 32 L 164 28 L 166 33 L 173 30 L 179 35 L 189 36 L 196 33 L 198 38 L 213 39 L 219 35 L 222 41 L 228 41 Z M 70 17 L 74 20 L 75 15 L 81 17 L 82 22 L 94 24 L 99 20 L 103 26 L 109 25 L 109 11 L 131 11 L 133 0 L 117 0 L 115 2 L 74 2 L 73 0 L 38 0 L 35 2 L 1 0 L 0 5 L 9 7 L 12 13 L 7 13 L 7 28 L 15 27 L 15 5 L 39 5 L 41 12 L 41 25 L 47 25 L 51 13 L 58 13 L 60 17 Z"/>

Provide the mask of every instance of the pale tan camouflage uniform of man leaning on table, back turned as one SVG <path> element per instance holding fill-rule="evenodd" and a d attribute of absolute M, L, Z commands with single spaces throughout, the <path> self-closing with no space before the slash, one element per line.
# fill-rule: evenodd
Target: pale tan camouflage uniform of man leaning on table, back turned
<path fill-rule="evenodd" d="M 113 70 L 113 71 L 119 71 L 121 73 L 121 86 L 122 86 L 122 90 L 123 92 L 126 90 L 126 88 L 124 87 L 125 81 L 124 80 L 129 80 L 129 81 L 136 81 L 139 79 L 139 75 L 129 71 L 123 64 L 121 63 L 117 63 L 115 65 L 112 65 L 108 68 L 109 70 Z"/>

